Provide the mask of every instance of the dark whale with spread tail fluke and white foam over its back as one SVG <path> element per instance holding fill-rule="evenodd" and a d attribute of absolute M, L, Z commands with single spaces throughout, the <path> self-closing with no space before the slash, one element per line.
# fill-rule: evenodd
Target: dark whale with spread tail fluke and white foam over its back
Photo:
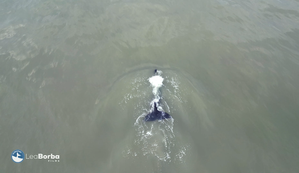
<path fill-rule="evenodd" d="M 150 113 L 148 113 L 144 117 L 144 121 L 155 121 L 155 120 L 162 120 L 166 118 L 172 118 L 167 112 L 160 111 L 157 108 L 157 103 L 160 100 L 160 92 L 159 88 L 163 85 L 163 78 L 160 77 L 160 71 L 155 70 L 156 76 L 153 76 L 152 78 L 149 79 L 149 82 L 153 86 L 153 94 L 155 95 L 154 100 L 152 103 L 154 103 L 153 108 Z"/>

